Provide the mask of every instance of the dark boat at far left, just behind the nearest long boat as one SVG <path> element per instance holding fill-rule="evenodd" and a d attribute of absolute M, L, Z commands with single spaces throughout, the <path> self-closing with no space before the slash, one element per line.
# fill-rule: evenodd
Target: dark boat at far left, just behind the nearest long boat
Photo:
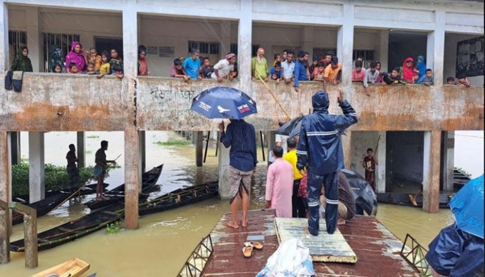
<path fill-rule="evenodd" d="M 108 186 L 108 184 L 105 184 Z M 37 202 L 33 202 L 30 204 L 25 204 L 30 208 L 35 208 L 37 210 L 37 217 L 41 217 L 42 215 L 46 215 L 53 211 L 53 209 L 57 208 L 62 202 L 66 201 L 68 198 L 73 197 L 75 195 L 87 195 L 89 193 L 95 193 L 96 188 L 93 189 L 92 185 L 87 185 L 81 189 L 79 192 L 66 192 L 66 191 L 58 191 L 56 193 L 52 193 L 51 196 L 46 197 L 45 199 L 39 200 Z M 15 201 L 15 200 L 14 200 Z M 24 215 L 21 213 L 13 212 L 12 213 L 12 224 L 19 224 L 24 221 Z"/>

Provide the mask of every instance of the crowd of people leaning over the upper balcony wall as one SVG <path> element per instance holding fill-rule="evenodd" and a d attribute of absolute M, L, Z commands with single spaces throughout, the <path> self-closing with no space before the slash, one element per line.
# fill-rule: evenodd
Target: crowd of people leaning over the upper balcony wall
<path fill-rule="evenodd" d="M 149 75 L 148 63 L 146 60 L 146 47 L 138 47 L 138 75 Z M 293 84 L 296 91 L 299 91 L 299 82 L 317 81 L 339 84 L 342 80 L 342 64 L 333 52 L 328 52 L 324 57 L 315 57 L 310 64 L 306 51 L 299 51 L 295 57 L 291 49 L 283 51 L 283 54 L 274 54 L 272 67 L 268 67 L 265 58 L 265 50 L 258 48 L 256 56 L 251 60 L 252 80 L 274 80 Z M 64 62 L 65 61 L 65 62 Z M 112 48 L 110 51 L 103 51 L 98 55 L 96 48 L 89 48 L 85 51 L 80 42 L 71 44 L 71 51 L 62 58 L 60 48 L 55 48 L 49 59 L 52 73 L 73 73 L 96 75 L 103 78 L 104 75 L 115 75 L 123 78 L 123 59 L 118 57 L 118 51 Z M 426 67 L 425 57 L 418 55 L 416 59 L 407 57 L 403 66 L 398 66 L 390 71 L 382 69 L 381 62 L 369 62 L 369 68 L 364 68 L 364 59 L 357 57 L 352 69 L 352 82 L 362 82 L 367 91 L 369 84 L 434 84 L 432 69 Z M 28 48 L 22 47 L 17 57 L 12 62 L 12 71 L 32 72 L 32 64 L 28 58 Z M 200 57 L 198 49 L 192 49 L 188 57 L 179 57 L 173 61 L 170 67 L 170 77 L 188 80 L 213 79 L 233 80 L 238 77 L 238 66 L 236 55 L 228 53 L 224 59 L 219 60 L 213 66 L 209 57 Z M 466 74 L 459 74 L 448 77 L 446 84 L 470 87 Z"/>

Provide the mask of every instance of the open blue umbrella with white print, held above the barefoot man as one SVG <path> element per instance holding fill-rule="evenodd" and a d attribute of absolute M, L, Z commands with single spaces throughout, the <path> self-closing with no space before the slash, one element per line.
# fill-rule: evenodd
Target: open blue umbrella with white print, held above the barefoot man
<path fill-rule="evenodd" d="M 256 114 L 256 102 L 246 93 L 232 87 L 212 87 L 192 101 L 191 110 L 206 118 L 241 119 Z"/>

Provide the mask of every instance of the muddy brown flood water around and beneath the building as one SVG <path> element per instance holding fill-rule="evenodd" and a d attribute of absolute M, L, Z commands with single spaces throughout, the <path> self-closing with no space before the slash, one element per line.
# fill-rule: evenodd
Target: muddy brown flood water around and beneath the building
<path fill-rule="evenodd" d="M 473 148 L 472 153 L 480 153 L 481 156 L 474 156 L 475 163 L 457 161 L 457 159 L 470 160 L 470 157 L 462 154 L 468 153 L 468 150 L 455 149 L 455 166 L 473 172 L 473 177 L 483 173 L 484 163 L 483 132 L 476 133 L 474 132 L 473 136 L 466 136 L 467 139 L 477 141 L 476 145 L 464 143 L 470 149 Z M 470 132 L 464 134 L 470 134 Z M 114 159 L 118 154 L 122 154 L 117 161 L 118 164 L 123 165 L 123 132 L 87 132 L 86 136 L 88 137 L 86 139 L 87 165 L 94 164 L 94 153 L 103 139 L 109 141 L 107 159 Z M 481 136 L 481 141 L 474 136 Z M 164 170 L 157 183 L 161 186 L 161 191 L 150 197 L 156 197 L 183 186 L 217 179 L 218 158 L 215 157 L 213 148 L 209 149 L 204 167 L 196 168 L 195 148 L 192 145 L 168 147 L 155 144 L 157 141 L 170 139 L 181 138 L 173 132 L 146 133 L 147 169 L 164 163 Z M 64 165 L 67 145 L 76 143 L 76 134 L 73 132 L 47 133 L 45 141 L 45 162 Z M 28 157 L 26 134 L 21 136 L 21 145 L 22 156 Z M 478 152 L 476 147 L 482 147 L 482 150 Z M 261 162 L 263 161 L 261 150 L 258 156 L 260 164 L 254 177 L 251 208 L 264 206 L 266 167 Z M 123 168 L 116 168 L 112 170 L 106 182 L 110 184 L 109 188 L 113 188 L 122 184 L 123 178 Z M 89 213 L 89 208 L 82 206 L 82 203 L 92 197 L 91 195 L 72 199 L 56 211 L 40 217 L 37 222 L 38 230 L 44 231 Z M 71 258 L 80 258 L 88 262 L 91 265 L 88 273 L 96 273 L 97 276 L 176 276 L 198 242 L 210 233 L 222 213 L 227 212 L 229 212 L 229 204 L 226 201 L 210 199 L 172 211 L 141 217 L 139 229 L 136 231 L 123 230 L 119 233 L 107 234 L 102 230 L 60 247 L 39 252 L 37 269 L 25 269 L 24 253 L 11 252 L 11 262 L 0 265 L 0 276 L 30 276 Z M 443 226 L 454 221 L 448 209 L 430 214 L 420 208 L 385 204 L 379 204 L 377 218 L 401 240 L 405 238 L 406 233 L 409 233 L 426 247 Z M 22 226 L 14 226 L 11 240 L 17 240 L 22 236 Z"/>

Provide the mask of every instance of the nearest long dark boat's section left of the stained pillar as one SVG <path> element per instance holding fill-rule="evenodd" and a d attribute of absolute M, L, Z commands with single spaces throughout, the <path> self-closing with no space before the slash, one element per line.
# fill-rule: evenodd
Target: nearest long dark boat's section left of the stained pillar
<path fill-rule="evenodd" d="M 123 211 L 123 210 L 122 210 Z M 78 220 L 67 222 L 53 229 L 37 234 L 37 249 L 39 251 L 57 247 L 66 242 L 82 238 L 85 235 L 94 233 L 100 229 L 105 228 L 108 224 L 121 220 L 122 212 L 115 213 L 105 209 L 85 215 Z M 24 240 L 17 240 L 10 242 L 10 251 L 23 252 L 25 251 Z"/>

